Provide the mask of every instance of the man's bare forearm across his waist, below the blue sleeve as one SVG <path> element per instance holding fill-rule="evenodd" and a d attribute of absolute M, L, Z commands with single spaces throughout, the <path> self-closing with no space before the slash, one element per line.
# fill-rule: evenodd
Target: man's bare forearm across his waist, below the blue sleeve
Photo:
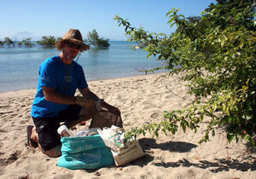
<path fill-rule="evenodd" d="M 75 104 L 75 97 L 62 95 L 55 91 L 54 88 L 43 86 L 43 92 L 46 101 L 55 102 L 58 104 Z"/>

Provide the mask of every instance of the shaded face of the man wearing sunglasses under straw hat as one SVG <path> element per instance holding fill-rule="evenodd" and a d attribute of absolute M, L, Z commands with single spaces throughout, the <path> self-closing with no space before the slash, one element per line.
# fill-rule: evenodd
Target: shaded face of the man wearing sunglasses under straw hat
<path fill-rule="evenodd" d="M 82 45 L 73 41 L 68 41 L 64 43 L 64 51 L 67 58 L 73 60 L 77 55 L 79 55 Z"/>

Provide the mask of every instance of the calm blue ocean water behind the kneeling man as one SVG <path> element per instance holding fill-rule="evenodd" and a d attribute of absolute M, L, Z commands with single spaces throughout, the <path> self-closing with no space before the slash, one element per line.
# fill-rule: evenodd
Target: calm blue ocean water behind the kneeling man
<path fill-rule="evenodd" d="M 109 49 L 95 49 L 82 53 L 79 64 L 84 68 L 87 81 L 123 78 L 144 75 L 138 69 L 161 66 L 153 57 L 147 59 L 147 52 L 133 50 L 135 43 L 110 42 Z M 44 48 L 0 48 L 0 92 L 35 89 L 38 84 L 40 64 L 53 55 L 57 49 Z"/>

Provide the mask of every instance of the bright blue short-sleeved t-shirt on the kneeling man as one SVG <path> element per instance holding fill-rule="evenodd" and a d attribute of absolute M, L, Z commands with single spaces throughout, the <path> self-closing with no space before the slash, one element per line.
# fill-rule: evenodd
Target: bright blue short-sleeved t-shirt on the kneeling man
<path fill-rule="evenodd" d="M 58 93 L 69 96 L 73 96 L 77 89 L 88 87 L 83 67 L 75 61 L 71 65 L 66 65 L 61 61 L 59 55 L 44 61 L 38 72 L 38 90 L 32 104 L 33 118 L 54 117 L 68 107 L 68 105 L 46 101 L 43 86 L 54 88 Z"/>

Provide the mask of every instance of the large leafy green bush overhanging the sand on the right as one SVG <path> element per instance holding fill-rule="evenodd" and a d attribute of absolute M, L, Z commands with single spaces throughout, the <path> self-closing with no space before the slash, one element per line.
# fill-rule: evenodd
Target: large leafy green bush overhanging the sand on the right
<path fill-rule="evenodd" d="M 168 24 L 177 26 L 171 35 L 146 32 L 132 27 L 119 16 L 119 26 L 125 26 L 130 41 L 142 43 L 148 57 L 166 61 L 170 74 L 179 73 L 188 81 L 194 101 L 183 109 L 165 112 L 159 124 L 144 124 L 132 128 L 126 137 L 158 136 L 160 130 L 175 134 L 178 124 L 185 132 L 196 130 L 206 117 L 206 134 L 202 141 L 215 135 L 216 127 L 224 126 L 227 138 L 241 137 L 254 145 L 256 132 L 256 60 L 253 0 L 219 0 L 202 12 L 198 20 L 189 20 L 178 9 L 166 14 Z"/>

